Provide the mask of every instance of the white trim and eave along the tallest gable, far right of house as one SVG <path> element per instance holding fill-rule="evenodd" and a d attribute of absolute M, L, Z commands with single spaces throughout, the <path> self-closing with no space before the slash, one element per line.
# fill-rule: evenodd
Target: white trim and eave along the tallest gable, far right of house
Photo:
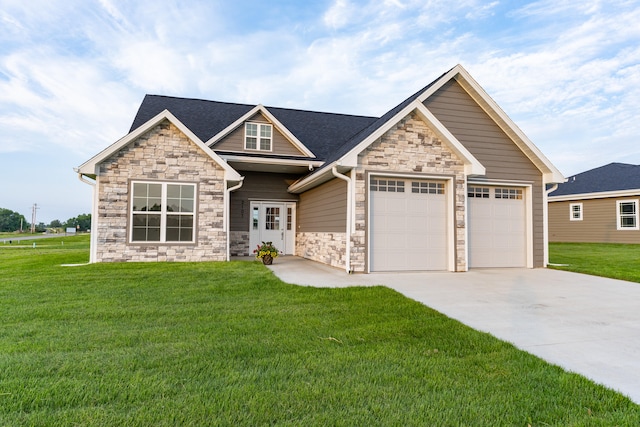
<path fill-rule="evenodd" d="M 476 103 L 502 128 L 503 131 L 513 140 L 520 150 L 531 160 L 543 173 L 544 183 L 565 182 L 566 178 L 562 173 L 545 157 L 536 145 L 520 130 L 511 118 L 500 108 L 500 106 L 489 96 L 489 94 L 475 81 L 467 70 L 460 64 L 453 67 L 446 74 L 440 77 L 426 91 L 418 96 L 422 103 L 445 83 L 455 79 L 462 88 L 476 101 Z M 478 99 L 479 98 L 479 99 Z"/>

